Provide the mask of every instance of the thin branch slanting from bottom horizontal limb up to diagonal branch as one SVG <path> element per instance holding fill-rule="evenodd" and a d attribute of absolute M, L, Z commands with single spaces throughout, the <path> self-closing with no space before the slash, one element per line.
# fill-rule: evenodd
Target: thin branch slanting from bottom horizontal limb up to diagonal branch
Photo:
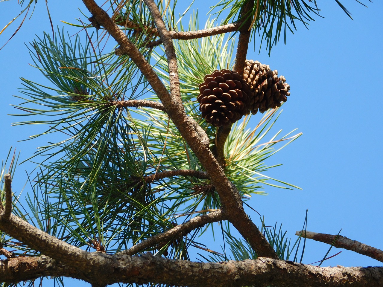
<path fill-rule="evenodd" d="M 189 233 L 191 230 L 194 230 L 199 227 L 203 227 L 207 223 L 217 222 L 217 221 L 221 221 L 225 219 L 226 219 L 226 216 L 222 210 L 217 210 L 214 212 L 210 212 L 209 214 L 197 216 L 188 220 L 185 223 L 179 224 L 167 230 L 164 233 L 160 233 L 150 238 L 147 238 L 146 240 L 132 246 L 131 248 L 127 250 L 121 251 L 117 253 L 116 255 L 124 254 L 124 255 L 131 256 L 133 254 L 141 252 L 142 250 L 146 248 L 158 245 L 159 243 L 162 243 L 164 241 L 170 241 L 173 238 L 181 237 Z"/>

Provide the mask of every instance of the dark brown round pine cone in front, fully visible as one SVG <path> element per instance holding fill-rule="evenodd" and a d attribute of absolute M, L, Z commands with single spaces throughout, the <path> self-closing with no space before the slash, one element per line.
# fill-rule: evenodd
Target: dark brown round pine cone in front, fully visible
<path fill-rule="evenodd" d="M 249 113 L 252 92 L 239 73 L 215 70 L 199 85 L 200 111 L 216 127 L 227 126 Z"/>

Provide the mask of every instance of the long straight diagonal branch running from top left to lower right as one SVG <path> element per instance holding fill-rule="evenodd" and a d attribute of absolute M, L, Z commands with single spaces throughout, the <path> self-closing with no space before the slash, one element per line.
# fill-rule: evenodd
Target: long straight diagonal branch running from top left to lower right
<path fill-rule="evenodd" d="M 241 198 L 237 196 L 238 192 L 225 176 L 218 161 L 211 153 L 210 148 L 201 142 L 200 136 L 188 120 L 185 109 L 182 104 L 178 102 L 178 98 L 173 99 L 170 97 L 168 91 L 153 71 L 151 65 L 137 50 L 134 44 L 129 41 L 121 29 L 119 29 L 110 19 L 108 14 L 98 7 L 94 0 L 83 0 L 83 3 L 90 13 L 92 13 L 97 22 L 118 42 L 120 47 L 116 52 L 128 55 L 147 78 L 149 84 L 164 105 L 170 119 L 172 119 L 175 126 L 177 126 L 182 137 L 188 143 L 198 157 L 198 160 L 200 160 L 201 165 L 203 165 L 206 172 L 209 174 L 230 222 L 239 230 L 242 236 L 250 242 L 252 248 L 257 251 L 260 256 L 278 258 L 277 254 L 270 247 L 262 233 L 259 232 L 257 226 L 251 222 L 245 213 Z"/>

